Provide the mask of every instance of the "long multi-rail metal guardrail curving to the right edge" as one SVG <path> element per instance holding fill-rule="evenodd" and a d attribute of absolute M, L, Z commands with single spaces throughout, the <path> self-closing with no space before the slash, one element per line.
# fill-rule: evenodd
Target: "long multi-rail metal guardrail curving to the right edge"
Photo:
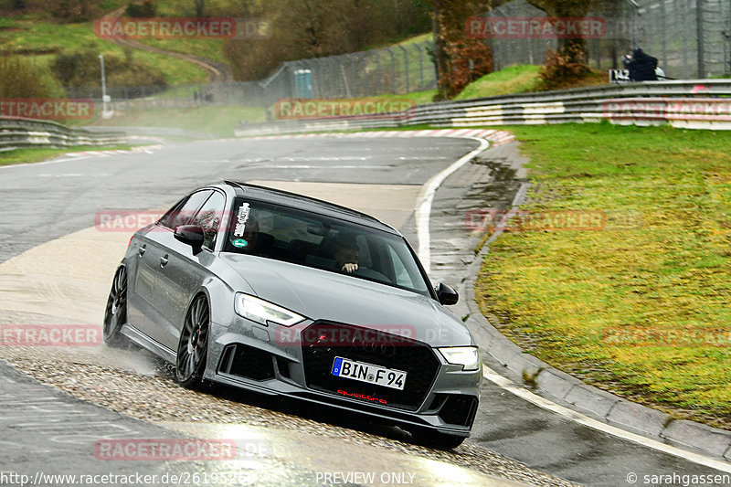
<path fill-rule="evenodd" d="M 431 125 L 471 127 L 566 122 L 731 130 L 731 80 L 692 79 L 608 85 L 418 105 L 399 116 L 332 117 L 245 124 L 239 137 Z"/>

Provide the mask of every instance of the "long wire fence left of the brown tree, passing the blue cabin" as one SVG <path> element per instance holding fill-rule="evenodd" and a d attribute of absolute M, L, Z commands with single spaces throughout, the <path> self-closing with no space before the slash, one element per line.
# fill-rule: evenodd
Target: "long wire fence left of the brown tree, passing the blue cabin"
<path fill-rule="evenodd" d="M 281 65 L 260 81 L 175 87 L 110 87 L 111 110 L 236 104 L 270 107 L 282 99 L 334 99 L 406 94 L 437 86 L 431 41 L 411 42 L 328 58 Z M 100 87 L 71 87 L 70 98 L 101 100 Z"/>

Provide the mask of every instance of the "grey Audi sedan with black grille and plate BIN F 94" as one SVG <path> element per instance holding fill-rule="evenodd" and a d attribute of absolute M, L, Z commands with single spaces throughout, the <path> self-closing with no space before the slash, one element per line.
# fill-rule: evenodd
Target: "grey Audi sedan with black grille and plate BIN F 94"
<path fill-rule="evenodd" d="M 201 381 L 397 424 L 431 445 L 470 435 L 481 360 L 457 302 L 394 228 L 307 196 L 226 181 L 139 230 L 104 339 Z"/>

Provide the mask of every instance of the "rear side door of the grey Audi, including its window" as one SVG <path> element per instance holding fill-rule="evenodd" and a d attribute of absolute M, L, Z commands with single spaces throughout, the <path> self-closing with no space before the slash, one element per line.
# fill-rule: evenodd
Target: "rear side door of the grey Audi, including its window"
<path fill-rule="evenodd" d="M 174 238 L 175 228 L 190 223 L 198 208 L 203 206 L 212 193 L 213 190 L 205 189 L 187 196 L 171 211 L 167 212 L 154 228 L 143 236 L 140 242 L 140 249 L 144 246 L 144 253 L 141 258 L 143 265 L 139 266 L 137 281 L 141 281 L 139 274 L 142 271 L 145 281 L 144 289 L 149 292 L 149 296 L 143 298 L 150 304 L 144 311 L 140 331 L 158 344 L 167 342 L 164 331 L 167 319 L 164 313 L 170 308 L 169 301 L 175 299 L 174 296 L 170 296 L 166 292 L 164 282 L 162 285 L 160 282 L 160 271 L 164 270 L 172 253 L 169 245 L 171 241 L 177 242 Z M 152 281 L 153 288 L 151 291 L 147 290 L 147 287 L 150 286 L 149 281 Z M 175 348 L 172 350 L 175 350 Z"/>

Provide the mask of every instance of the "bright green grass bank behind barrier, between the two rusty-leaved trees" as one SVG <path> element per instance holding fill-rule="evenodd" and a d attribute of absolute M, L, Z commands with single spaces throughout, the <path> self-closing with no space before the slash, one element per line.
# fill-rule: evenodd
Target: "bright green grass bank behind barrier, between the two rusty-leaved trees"
<path fill-rule="evenodd" d="M 540 66 L 520 65 L 510 66 L 480 79 L 472 81 L 461 91 L 455 100 L 469 100 L 490 96 L 523 93 L 535 90 L 539 83 L 538 69 Z"/>

